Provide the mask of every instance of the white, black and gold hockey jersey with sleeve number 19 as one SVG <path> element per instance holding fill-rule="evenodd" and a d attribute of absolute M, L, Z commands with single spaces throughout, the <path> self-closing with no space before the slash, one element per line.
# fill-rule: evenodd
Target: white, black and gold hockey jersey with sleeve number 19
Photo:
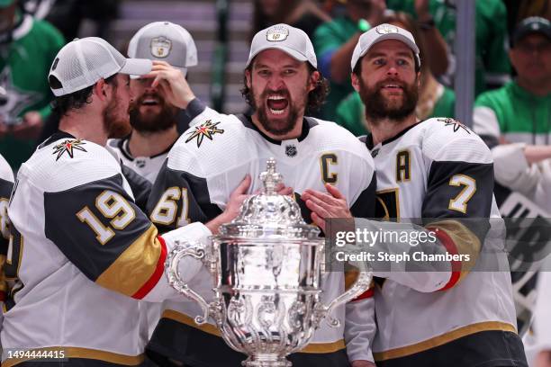
<path fill-rule="evenodd" d="M 211 234 L 196 223 L 158 236 L 119 162 L 64 132 L 21 166 L 8 214 L 5 270 L 15 285 L 5 302 L 3 347 L 51 348 L 88 360 L 82 365 L 143 362 L 147 330 L 137 300 L 184 299 L 163 274 L 167 252 L 175 237 Z M 193 274 L 201 264 L 188 265 Z"/>

